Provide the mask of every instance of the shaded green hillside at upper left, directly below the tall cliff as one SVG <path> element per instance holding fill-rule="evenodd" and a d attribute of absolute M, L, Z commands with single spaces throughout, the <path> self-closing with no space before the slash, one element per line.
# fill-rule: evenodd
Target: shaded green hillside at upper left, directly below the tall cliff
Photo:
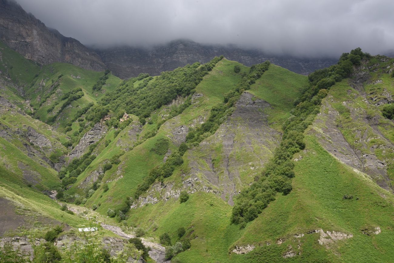
<path fill-rule="evenodd" d="M 38 65 L 2 42 L 0 48 L 4 97 L 13 97 L 13 103 L 33 118 L 67 133 L 72 143 L 90 129 L 86 121 L 73 123 L 80 117 L 75 118 L 78 110 L 91 107 L 121 81 L 109 71 L 88 71 L 66 63 Z"/>

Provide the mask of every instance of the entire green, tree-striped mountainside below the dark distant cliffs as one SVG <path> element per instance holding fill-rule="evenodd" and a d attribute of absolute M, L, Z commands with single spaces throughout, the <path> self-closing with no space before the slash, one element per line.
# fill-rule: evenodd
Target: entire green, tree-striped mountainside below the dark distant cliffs
<path fill-rule="evenodd" d="M 65 261 L 138 235 L 147 262 L 390 262 L 394 58 L 350 53 L 122 81 L 0 43 L 0 257 L 60 224 Z"/>

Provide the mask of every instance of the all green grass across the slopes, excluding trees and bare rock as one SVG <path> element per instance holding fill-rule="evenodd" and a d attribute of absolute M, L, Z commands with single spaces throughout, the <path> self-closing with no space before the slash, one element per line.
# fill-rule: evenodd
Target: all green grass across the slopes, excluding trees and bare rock
<path fill-rule="evenodd" d="M 60 142 L 69 140 L 69 137 L 78 138 L 88 129 L 82 126 L 85 130 L 74 136 L 72 134 L 80 126 L 73 123 L 72 131 L 67 132 L 69 137 L 61 133 L 65 123 L 74 116 L 76 110 L 87 103 L 95 103 L 102 97 L 104 90 L 105 92 L 113 90 L 120 82 L 118 78 L 111 75 L 107 80 L 108 86 L 103 86 L 103 91 L 92 92 L 91 87 L 102 76 L 102 72 L 86 71 L 63 63 L 37 65 L 24 60 L 2 43 L 0 48 L 3 57 L 0 70 L 8 72 L 14 83 L 24 84 L 26 96 L 32 98 L 33 107 L 37 108 L 40 98 L 50 92 L 52 85 L 59 81 L 56 91 L 35 112 L 35 116 L 40 120 L 48 120 L 51 114 L 48 114 L 46 109 L 58 103 L 58 98 L 65 92 L 74 88 L 82 88 L 84 91 L 85 95 L 82 98 L 73 101 L 71 107 L 65 108 L 60 114 L 55 123 L 58 125 L 58 132 L 51 131 L 49 126 L 28 116 L 18 115 L 18 118 L 15 118 L 15 113 L 2 114 L 1 125 L 13 131 L 16 129 L 23 131 L 26 129 L 24 125 L 33 127 L 54 144 L 52 152 L 57 155 L 61 151 L 66 151 Z M 380 65 L 371 73 L 371 79 L 373 82 L 376 80 L 382 82 L 367 84 L 364 88 L 367 94 L 383 98 L 383 92 L 392 94 L 393 91 L 393 79 L 385 73 L 385 70 L 387 71 L 385 67 L 392 65 L 393 60 L 388 62 L 381 62 L 378 58 L 373 60 L 372 65 L 375 63 Z M 238 74 L 234 73 L 235 65 L 241 67 L 241 72 Z M 248 67 L 237 62 L 225 59 L 218 62 L 196 88 L 196 92 L 203 96 L 194 99 L 191 106 L 181 114 L 166 121 L 157 133 L 152 132 L 156 132 L 157 124 L 171 111 L 168 105 L 152 113 L 151 119 L 147 119 L 151 124 L 147 123 L 142 127 L 141 132 L 136 135 L 136 141 L 132 141 L 128 135 L 133 128 L 131 126 L 119 132 L 116 137 L 115 129 L 109 129 L 95 149 L 97 158 L 78 176 L 76 184 L 66 192 L 84 196 L 85 189 L 77 188 L 82 181 L 99 170 L 111 157 L 125 151 L 120 157 L 121 162 L 106 171 L 102 179 L 102 182 L 108 181 L 109 190 L 104 192 L 102 187 L 99 187 L 85 204 L 85 207 L 100 204 L 96 212 L 89 212 L 88 215 L 96 215 L 100 220 L 106 220 L 107 209 L 116 209 L 125 197 L 133 196 L 137 185 L 148 175 L 149 170 L 163 162 L 164 151 L 158 153 L 152 151 L 157 148 L 157 143 L 168 138 L 171 141 L 169 149 L 174 151 L 177 148 L 174 131 L 181 125 L 188 127 L 200 125 L 208 116 L 210 109 L 223 101 L 224 95 L 236 86 L 241 74 L 248 70 Z M 63 76 L 59 77 L 59 75 Z M 388 144 L 394 139 L 393 123 L 381 116 L 378 107 L 371 105 L 372 99 L 367 97 L 370 103 L 366 103 L 356 90 L 349 87 L 347 81 L 339 82 L 331 88 L 329 95 L 323 100 L 322 113 L 328 113 L 328 109 L 325 108 L 327 105 L 336 110 L 338 112 L 336 125 L 349 144 L 361 153 L 373 153 L 379 159 L 384 159 L 388 164 L 388 174 L 392 176 L 391 160 L 394 156 L 388 152 Z M 134 83 L 134 85 L 138 84 L 139 82 Z M 307 85 L 306 76 L 270 65 L 269 70 L 251 86 L 248 92 L 271 104 L 271 109 L 264 110 L 268 115 L 268 125 L 281 132 L 283 121 L 291 115 L 294 99 Z M 15 87 L 11 84 L 1 91 L 12 101 L 19 103 L 20 108 L 27 108 L 28 106 L 23 103 L 24 99 L 14 92 Z M 184 98 L 178 99 L 182 101 Z M 54 108 L 54 112 L 60 108 L 61 103 Z M 137 125 L 138 118 L 131 115 L 130 117 L 135 121 L 133 125 Z M 377 123 L 375 127 L 372 127 L 364 117 L 375 119 Z M 317 118 L 324 120 L 325 117 L 321 114 Z M 242 127 L 240 124 L 242 120 L 233 121 L 235 125 L 231 132 L 235 134 L 234 145 L 237 149 L 231 153 L 230 158 L 236 160 L 237 165 L 232 165 L 229 169 L 238 170 L 240 175 L 240 182 L 236 185 L 238 190 L 251 183 L 253 176 L 262 171 L 263 167 L 258 167 L 252 173 L 250 167 L 259 166 L 260 160 L 268 160 L 272 155 L 273 146 L 263 147 L 261 142 L 253 140 L 249 148 L 236 144 L 245 141 L 246 134 L 251 131 Z M 178 239 L 177 229 L 184 227 L 185 235 L 191 239 L 191 248 L 175 257 L 180 262 L 352 262 L 355 259 L 358 262 L 392 261 L 394 197 L 379 188 L 367 175 L 349 168 L 325 151 L 316 135 L 311 135 L 309 132 L 310 129 L 320 129 L 320 125 L 323 125 L 322 122 L 316 122 L 305 131 L 305 151 L 295 156 L 302 155 L 303 158 L 295 162 L 293 190 L 286 196 L 277 194 L 276 200 L 269 203 L 262 214 L 249 222 L 244 229 L 230 224 L 232 207 L 227 202 L 221 200 L 217 194 L 203 191 L 190 194 L 189 200 L 184 203 L 180 203 L 176 198 L 164 201 L 160 199 L 160 193 L 156 192 L 154 194 L 159 197 L 158 203 L 131 209 L 128 212 L 128 225 L 144 228 L 147 230 L 147 236 L 156 241 L 163 233 L 169 233 L 173 244 Z M 377 131 L 380 134 L 377 134 Z M 149 134 L 154 136 L 147 138 Z M 364 134 L 366 140 L 361 143 Z M 164 180 L 164 184 L 171 183 L 174 185 L 173 189 L 177 190 L 188 176 L 200 177 L 204 181 L 203 175 L 190 173 L 193 160 L 196 160 L 199 166 L 210 169 L 205 161 L 210 159 L 218 176 L 223 177 L 221 164 L 224 147 L 221 138 L 226 135 L 217 132 L 203 141 L 203 144 L 207 145 L 204 146 L 205 148 L 196 146 L 189 150 L 184 155 L 184 164 L 177 167 L 173 175 Z M 105 145 L 106 142 L 109 142 L 108 146 Z M 0 198 L 13 200 L 16 205 L 26 209 L 24 213 L 28 216 L 39 214 L 65 222 L 72 227 L 86 224 L 84 218 L 61 211 L 55 201 L 41 193 L 42 190 L 58 187 L 59 179 L 52 168 L 40 165 L 37 157 L 28 157 L 23 152 L 23 143 L 25 143 L 24 139 L 19 137 L 12 137 L 10 141 L 0 138 L 2 149 Z M 379 145 L 385 147 L 378 147 Z M 19 162 L 37 174 L 39 184 L 34 187 L 28 186 L 18 166 Z M 84 186 L 89 188 L 89 183 Z M 218 190 L 220 187 L 212 188 Z M 353 195 L 354 198 L 344 200 L 343 196 L 346 194 Z M 85 209 L 78 208 L 81 211 Z M 110 222 L 116 224 L 114 219 L 110 219 Z M 156 226 L 157 229 L 154 230 Z M 361 229 L 375 227 L 381 228 L 379 235 L 364 235 L 361 232 Z M 333 242 L 327 247 L 322 246 L 317 242 L 318 233 L 307 234 L 310 230 L 319 228 L 324 231 L 351 233 L 353 237 Z M 294 237 L 297 233 L 303 233 L 304 236 L 298 239 Z M 280 245 L 277 244 L 279 238 L 285 240 Z M 247 244 L 253 244 L 256 248 L 245 255 L 230 253 L 234 246 Z M 292 246 L 292 250 L 297 255 L 285 259 L 283 255 L 288 252 L 289 246 Z"/>

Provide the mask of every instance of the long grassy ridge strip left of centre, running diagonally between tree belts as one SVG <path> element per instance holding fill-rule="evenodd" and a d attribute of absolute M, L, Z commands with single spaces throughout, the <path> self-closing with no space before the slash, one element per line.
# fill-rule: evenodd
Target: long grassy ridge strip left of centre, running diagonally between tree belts
<path fill-rule="evenodd" d="M 142 144 L 134 147 L 134 149 L 127 151 L 125 155 L 120 158 L 124 163 L 121 162 L 121 164 L 119 164 L 122 166 L 121 174 L 123 175 L 123 178 L 109 183 L 108 185 L 110 190 L 108 190 L 108 192 L 104 193 L 102 192 L 102 189 L 99 188 L 99 190 L 97 190 L 87 201 L 86 205 L 89 206 L 93 203 L 101 203 L 101 206 L 97 211 L 104 214 L 108 208 L 116 207 L 116 204 L 123 200 L 125 196 L 132 196 L 137 185 L 141 183 L 142 179 L 149 173 L 149 170 L 163 161 L 164 155 L 157 155 L 150 151 L 152 147 L 154 147 L 155 142 L 160 138 L 164 138 L 164 136 L 172 136 L 171 131 L 175 127 L 195 123 L 195 119 L 201 116 L 206 116 L 212 106 L 222 101 L 224 94 L 232 89 L 241 78 L 239 74 L 234 73 L 234 65 L 237 64 L 242 66 L 243 71 L 248 69 L 238 62 L 232 62 L 229 60 L 222 60 L 218 62 L 216 67 L 214 67 L 208 75 L 204 76 L 204 79 L 196 88 L 197 93 L 204 94 L 203 99 L 199 104 L 197 104 L 197 107 L 190 106 L 186 108 L 182 114 L 164 123 L 154 137 L 147 139 Z M 210 87 L 215 87 L 215 90 L 212 91 Z M 152 124 L 145 124 L 139 137 L 142 138 L 148 131 L 154 129 L 154 127 L 156 127 L 156 123 L 162 119 L 161 116 L 166 114 L 168 111 L 169 107 L 163 106 L 156 112 L 152 113 Z M 130 140 L 127 136 L 129 129 L 130 127 L 124 129 L 116 138 L 113 138 L 113 132 L 108 132 L 108 134 L 106 134 L 103 142 L 105 140 L 111 140 L 112 142 L 92 162 L 90 168 L 88 167 L 87 170 L 78 177 L 78 181 L 75 185 L 78 185 L 80 181 L 89 175 L 89 173 L 97 170 L 104 160 L 109 159 L 112 155 L 121 151 L 121 147 L 116 146 L 118 140 L 125 142 L 126 144 L 130 144 Z M 174 150 L 176 149 L 176 146 L 170 144 L 170 149 Z M 116 170 L 117 167 L 114 165 L 111 170 L 106 172 L 102 181 L 116 177 L 114 175 Z M 179 172 L 180 170 L 175 171 L 175 176 L 173 177 L 179 177 Z M 178 180 L 179 178 L 176 178 L 175 180 Z M 78 191 L 75 186 L 69 190 L 70 193 L 75 191 Z M 81 190 L 79 189 L 79 191 Z M 109 198 L 112 200 L 111 202 L 106 201 L 109 200 Z"/>

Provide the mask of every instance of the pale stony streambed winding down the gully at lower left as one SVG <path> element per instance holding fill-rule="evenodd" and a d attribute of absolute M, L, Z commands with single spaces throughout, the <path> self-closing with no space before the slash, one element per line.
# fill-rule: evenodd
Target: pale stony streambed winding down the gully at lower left
<path fill-rule="evenodd" d="M 62 205 L 61 203 L 59 203 L 60 205 Z M 96 215 L 97 218 L 101 218 L 104 219 L 102 215 L 100 215 L 99 213 L 93 211 L 92 209 L 89 209 L 87 207 L 79 207 L 79 206 L 71 206 L 69 204 L 67 204 L 67 208 L 76 213 L 77 215 L 81 215 L 85 218 L 89 218 L 91 215 Z M 87 215 L 84 213 L 84 211 L 89 211 L 90 215 Z M 136 237 L 135 235 L 132 234 L 128 234 L 125 233 L 119 226 L 113 226 L 110 224 L 104 224 L 102 222 L 100 222 L 100 225 L 102 226 L 102 228 L 107 229 L 109 231 L 111 231 L 112 233 L 114 233 L 115 235 L 118 235 L 119 237 L 123 237 L 126 239 L 130 239 L 133 237 Z M 165 248 L 164 246 L 162 246 L 159 243 L 156 242 L 152 242 L 149 241 L 143 237 L 141 237 L 141 241 L 144 244 L 144 246 L 146 247 L 150 247 L 151 250 L 149 250 L 149 256 L 156 262 L 156 263 L 169 263 L 169 260 L 165 260 Z"/>

